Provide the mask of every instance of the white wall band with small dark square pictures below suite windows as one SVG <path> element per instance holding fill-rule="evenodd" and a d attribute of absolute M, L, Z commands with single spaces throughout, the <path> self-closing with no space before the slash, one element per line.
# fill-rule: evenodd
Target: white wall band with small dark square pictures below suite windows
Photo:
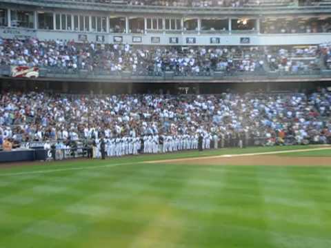
<path fill-rule="evenodd" d="M 97 41 L 97 36 L 104 38 L 104 43 L 122 43 L 137 45 L 305 45 L 331 41 L 331 33 L 325 34 L 100 34 L 54 30 L 29 30 L 22 28 L 0 28 L 2 38 L 37 37 L 41 40 L 60 39 L 79 41 Z M 135 37 L 135 38 L 133 38 Z M 178 38 L 178 43 L 170 43 L 170 38 Z M 195 43 L 187 43 L 187 38 L 194 38 Z M 211 38 L 219 38 L 219 43 L 210 43 Z M 245 39 L 243 39 L 245 38 Z M 248 38 L 248 39 L 246 39 Z M 133 41 L 135 39 L 136 42 Z M 141 42 L 139 42 L 141 41 Z M 245 42 L 246 43 L 245 43 Z"/>

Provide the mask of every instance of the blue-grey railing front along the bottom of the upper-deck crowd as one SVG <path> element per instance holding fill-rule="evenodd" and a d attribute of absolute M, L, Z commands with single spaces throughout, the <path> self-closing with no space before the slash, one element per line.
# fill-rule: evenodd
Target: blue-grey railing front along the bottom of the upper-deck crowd
<path fill-rule="evenodd" d="M 0 65 L 0 76 L 10 76 L 10 65 Z M 110 70 L 79 70 L 70 68 L 46 67 L 39 68 L 39 78 L 48 79 L 79 79 L 81 81 L 227 81 L 238 79 L 252 81 L 259 79 L 331 79 L 331 70 L 299 70 L 298 72 L 265 71 L 255 72 L 214 71 L 180 73 L 173 71 L 153 72 L 138 70 L 137 72 Z"/>

